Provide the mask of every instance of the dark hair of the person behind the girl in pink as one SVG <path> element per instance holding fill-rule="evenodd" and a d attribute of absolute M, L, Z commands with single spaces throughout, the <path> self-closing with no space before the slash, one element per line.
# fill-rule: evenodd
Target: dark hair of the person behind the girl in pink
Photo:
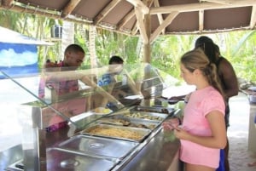
<path fill-rule="evenodd" d="M 201 36 L 195 41 L 195 48 L 201 48 L 205 54 L 207 54 L 208 59 L 216 64 L 216 47 L 212 39 L 206 36 Z"/>

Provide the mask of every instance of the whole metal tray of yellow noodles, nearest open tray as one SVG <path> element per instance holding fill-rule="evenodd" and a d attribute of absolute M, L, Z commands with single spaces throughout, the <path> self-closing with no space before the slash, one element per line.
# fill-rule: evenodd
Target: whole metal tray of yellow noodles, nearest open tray
<path fill-rule="evenodd" d="M 119 140 L 130 140 L 136 142 L 142 142 L 150 133 L 151 130 L 146 128 L 131 128 L 123 126 L 113 126 L 109 124 L 96 124 L 81 131 L 81 134 L 90 134 L 100 137 L 108 137 Z"/>

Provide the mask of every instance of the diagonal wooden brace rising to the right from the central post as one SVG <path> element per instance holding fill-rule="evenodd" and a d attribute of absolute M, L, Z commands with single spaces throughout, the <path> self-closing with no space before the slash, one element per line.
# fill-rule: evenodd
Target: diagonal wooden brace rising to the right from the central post
<path fill-rule="evenodd" d="M 157 27 L 157 29 L 155 29 L 154 33 L 151 35 L 150 39 L 149 39 L 149 43 L 152 43 L 154 41 L 154 39 L 160 35 L 160 32 L 166 28 L 166 26 L 168 26 L 170 23 L 172 23 L 172 20 L 175 19 L 175 17 L 177 16 L 177 14 L 179 14 L 177 11 L 172 12 L 171 14 L 169 14 L 166 17 L 166 20 L 163 21 L 163 23 Z"/>

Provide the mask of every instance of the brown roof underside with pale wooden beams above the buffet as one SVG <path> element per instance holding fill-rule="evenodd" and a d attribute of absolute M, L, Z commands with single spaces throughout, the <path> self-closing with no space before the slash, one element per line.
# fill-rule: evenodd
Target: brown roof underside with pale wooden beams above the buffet
<path fill-rule="evenodd" d="M 0 2 L 0 9 L 80 22 L 131 36 L 139 35 L 145 45 L 152 43 L 159 35 L 253 30 L 256 22 L 256 0 L 2 0 Z"/>

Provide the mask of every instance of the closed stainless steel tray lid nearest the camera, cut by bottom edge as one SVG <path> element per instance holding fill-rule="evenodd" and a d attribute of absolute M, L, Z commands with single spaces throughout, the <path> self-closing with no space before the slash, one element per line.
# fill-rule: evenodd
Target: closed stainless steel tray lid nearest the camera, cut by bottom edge
<path fill-rule="evenodd" d="M 108 171 L 111 170 L 119 160 L 108 160 L 104 158 L 89 157 L 74 151 L 58 148 L 50 148 L 47 151 L 47 171 Z"/>

